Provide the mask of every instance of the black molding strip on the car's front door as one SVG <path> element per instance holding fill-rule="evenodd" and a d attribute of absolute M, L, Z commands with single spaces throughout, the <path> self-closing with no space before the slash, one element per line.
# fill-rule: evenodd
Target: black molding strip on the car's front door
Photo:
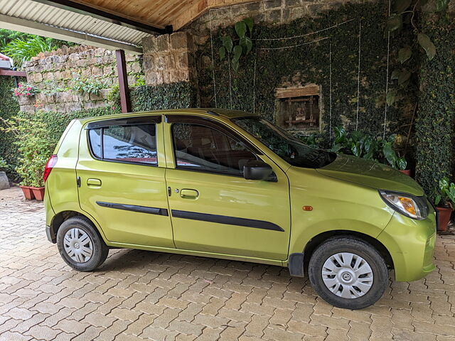
<path fill-rule="evenodd" d="M 200 220 L 203 222 L 217 222 L 218 224 L 237 225 L 245 227 L 255 227 L 256 229 L 269 229 L 272 231 L 284 232 L 284 229 L 273 222 L 264 222 L 263 220 L 245 219 L 230 217 L 227 215 L 208 215 L 207 213 L 188 212 L 171 210 L 172 216 L 175 218 Z"/>

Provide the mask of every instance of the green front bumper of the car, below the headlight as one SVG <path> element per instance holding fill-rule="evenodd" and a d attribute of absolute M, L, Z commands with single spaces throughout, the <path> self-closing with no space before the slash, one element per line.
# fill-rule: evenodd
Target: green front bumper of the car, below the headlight
<path fill-rule="evenodd" d="M 432 272 L 436 243 L 434 210 L 426 220 L 413 220 L 395 212 L 378 240 L 387 247 L 395 268 L 395 281 L 417 281 Z"/>

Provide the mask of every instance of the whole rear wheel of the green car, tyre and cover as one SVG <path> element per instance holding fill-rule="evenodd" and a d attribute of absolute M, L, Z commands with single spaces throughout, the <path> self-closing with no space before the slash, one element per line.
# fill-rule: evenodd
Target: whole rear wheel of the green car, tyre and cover
<path fill-rule="evenodd" d="M 60 225 L 57 247 L 66 264 L 78 271 L 97 269 L 109 254 L 97 229 L 85 217 L 72 217 Z"/>

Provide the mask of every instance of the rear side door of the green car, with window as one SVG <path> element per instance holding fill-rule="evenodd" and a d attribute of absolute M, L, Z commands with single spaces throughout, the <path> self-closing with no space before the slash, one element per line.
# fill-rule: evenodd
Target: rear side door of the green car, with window
<path fill-rule="evenodd" d="M 82 210 L 110 242 L 174 247 L 161 115 L 94 121 L 77 161 Z"/>

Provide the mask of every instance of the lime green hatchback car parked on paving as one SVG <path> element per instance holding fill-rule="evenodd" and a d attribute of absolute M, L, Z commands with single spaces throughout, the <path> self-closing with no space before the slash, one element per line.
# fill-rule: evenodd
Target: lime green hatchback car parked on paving
<path fill-rule="evenodd" d="M 434 269 L 412 178 L 309 148 L 260 117 L 176 109 L 71 121 L 44 171 L 46 234 L 92 271 L 109 248 L 287 266 L 341 308 Z"/>

